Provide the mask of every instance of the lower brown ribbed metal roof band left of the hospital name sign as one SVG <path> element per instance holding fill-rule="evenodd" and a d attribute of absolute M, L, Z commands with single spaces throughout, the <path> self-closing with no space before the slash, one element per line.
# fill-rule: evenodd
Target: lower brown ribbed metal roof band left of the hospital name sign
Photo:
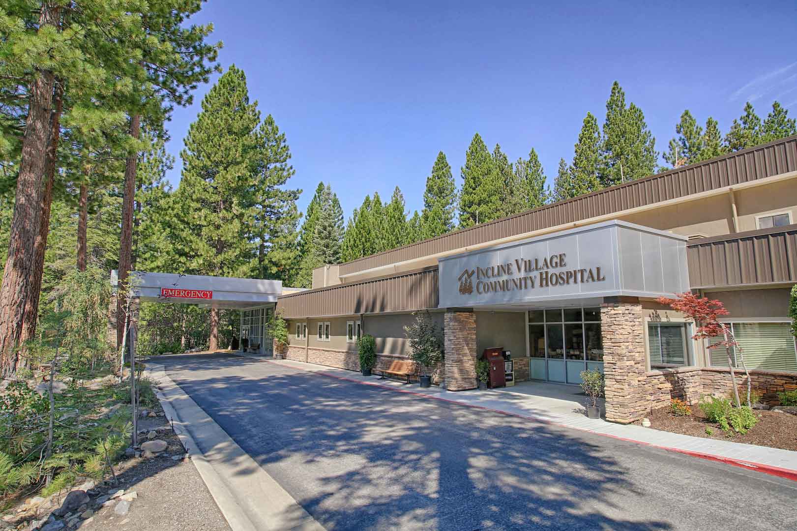
<path fill-rule="evenodd" d="M 359 313 L 407 312 L 438 307 L 438 268 L 397 277 L 310 289 L 277 299 L 286 319 Z"/>

